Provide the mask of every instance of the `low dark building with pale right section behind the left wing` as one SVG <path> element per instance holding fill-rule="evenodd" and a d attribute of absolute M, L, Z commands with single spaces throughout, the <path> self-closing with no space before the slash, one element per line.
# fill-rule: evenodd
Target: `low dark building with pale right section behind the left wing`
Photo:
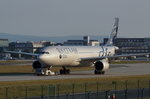
<path fill-rule="evenodd" d="M 19 51 L 19 52 L 27 52 L 27 53 L 38 53 L 40 50 L 46 46 L 53 46 L 57 43 L 54 42 L 47 42 L 47 41 L 40 41 L 40 42 L 11 42 L 9 43 L 9 50 L 11 51 Z M 28 55 L 17 55 L 17 54 L 11 54 L 12 57 L 15 58 L 32 58 Z"/>

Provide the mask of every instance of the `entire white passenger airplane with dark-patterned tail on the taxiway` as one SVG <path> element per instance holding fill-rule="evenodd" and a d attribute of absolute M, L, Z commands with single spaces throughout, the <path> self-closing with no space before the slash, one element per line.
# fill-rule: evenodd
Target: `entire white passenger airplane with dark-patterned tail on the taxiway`
<path fill-rule="evenodd" d="M 119 50 L 113 45 L 113 41 L 118 34 L 119 18 L 115 18 L 112 32 L 104 46 L 49 46 L 41 50 L 39 54 L 5 51 L 7 53 L 17 53 L 37 56 L 32 67 L 36 75 L 55 75 L 51 71 L 53 66 L 62 66 L 60 74 L 70 74 L 70 70 L 65 66 L 94 66 L 94 74 L 105 74 L 109 69 L 108 59 L 127 56 L 149 55 L 150 53 L 117 55 Z"/>

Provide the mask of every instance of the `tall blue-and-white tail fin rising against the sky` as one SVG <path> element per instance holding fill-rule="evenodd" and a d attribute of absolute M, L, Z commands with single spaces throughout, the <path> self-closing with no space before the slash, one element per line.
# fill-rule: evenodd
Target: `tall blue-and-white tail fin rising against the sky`
<path fill-rule="evenodd" d="M 119 24 L 119 18 L 115 18 L 115 24 L 113 26 L 110 37 L 106 43 L 106 46 L 112 46 L 113 45 L 113 40 L 117 37 L 117 34 L 118 34 L 118 24 Z"/>

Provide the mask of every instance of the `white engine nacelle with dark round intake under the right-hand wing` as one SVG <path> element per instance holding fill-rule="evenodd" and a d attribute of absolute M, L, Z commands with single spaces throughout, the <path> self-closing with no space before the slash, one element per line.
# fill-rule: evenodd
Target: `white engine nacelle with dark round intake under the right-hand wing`
<path fill-rule="evenodd" d="M 109 63 L 106 60 L 97 61 L 95 63 L 95 70 L 97 71 L 105 71 L 109 69 Z"/>

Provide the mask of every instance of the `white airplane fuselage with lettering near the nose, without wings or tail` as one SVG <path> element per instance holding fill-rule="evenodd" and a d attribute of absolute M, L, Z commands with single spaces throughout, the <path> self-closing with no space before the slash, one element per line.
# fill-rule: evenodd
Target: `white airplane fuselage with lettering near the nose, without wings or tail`
<path fill-rule="evenodd" d="M 81 58 L 112 56 L 116 46 L 51 46 L 42 50 L 38 60 L 47 66 L 92 65 Z"/>

